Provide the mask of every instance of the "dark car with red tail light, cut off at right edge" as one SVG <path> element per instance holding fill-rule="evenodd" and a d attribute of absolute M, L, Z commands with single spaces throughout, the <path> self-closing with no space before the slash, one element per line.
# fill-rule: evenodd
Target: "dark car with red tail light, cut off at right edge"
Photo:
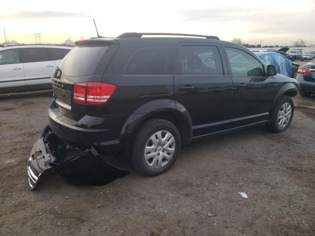
<path fill-rule="evenodd" d="M 315 59 L 298 69 L 296 80 L 300 83 L 300 95 L 302 97 L 315 94 Z"/>

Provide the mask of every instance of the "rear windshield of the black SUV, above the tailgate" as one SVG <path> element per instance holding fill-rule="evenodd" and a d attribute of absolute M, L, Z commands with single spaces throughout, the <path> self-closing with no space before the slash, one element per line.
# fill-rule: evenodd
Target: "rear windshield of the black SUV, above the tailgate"
<path fill-rule="evenodd" d="M 65 76 L 93 75 L 95 68 L 108 47 L 74 47 L 58 67 Z"/>

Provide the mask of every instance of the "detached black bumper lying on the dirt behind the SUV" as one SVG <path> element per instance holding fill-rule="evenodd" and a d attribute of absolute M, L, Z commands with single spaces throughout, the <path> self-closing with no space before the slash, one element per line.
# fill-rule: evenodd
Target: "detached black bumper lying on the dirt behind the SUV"
<path fill-rule="evenodd" d="M 100 184 L 106 176 L 107 182 L 125 177 L 130 173 L 113 166 L 93 147 L 85 150 L 70 148 L 47 126 L 42 137 L 34 144 L 28 160 L 28 188 L 37 187 L 39 177 L 50 168 L 55 168 L 63 176 L 72 176 L 83 183 Z"/>

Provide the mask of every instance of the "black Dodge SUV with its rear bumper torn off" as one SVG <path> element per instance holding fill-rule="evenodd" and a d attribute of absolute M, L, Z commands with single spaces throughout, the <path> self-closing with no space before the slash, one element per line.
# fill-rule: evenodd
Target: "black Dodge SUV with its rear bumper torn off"
<path fill-rule="evenodd" d="M 52 78 L 50 133 L 81 150 L 129 154 L 155 176 L 191 141 L 289 126 L 298 83 L 275 66 L 216 36 L 147 34 L 76 42 Z"/>

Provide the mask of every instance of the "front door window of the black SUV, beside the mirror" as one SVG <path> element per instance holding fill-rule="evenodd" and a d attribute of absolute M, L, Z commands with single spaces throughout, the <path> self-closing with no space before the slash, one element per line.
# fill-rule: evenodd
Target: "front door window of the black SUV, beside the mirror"
<path fill-rule="evenodd" d="M 236 76 L 263 76 L 262 64 L 252 55 L 236 48 L 225 47 L 230 62 L 232 75 Z"/>

